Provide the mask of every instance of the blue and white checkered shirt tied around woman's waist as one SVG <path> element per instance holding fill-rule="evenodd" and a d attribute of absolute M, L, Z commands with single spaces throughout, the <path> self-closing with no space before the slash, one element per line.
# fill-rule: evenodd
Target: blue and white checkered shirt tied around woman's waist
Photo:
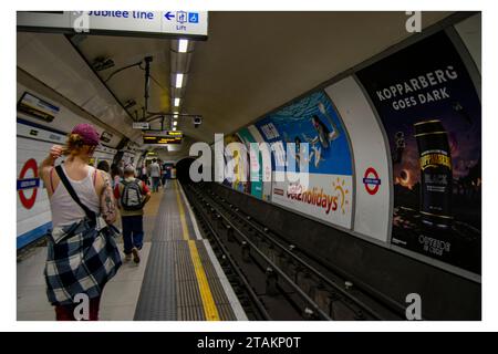
<path fill-rule="evenodd" d="M 76 294 L 100 296 L 122 264 L 116 229 L 91 226 L 83 219 L 54 228 L 44 270 L 46 294 L 53 305 L 72 304 Z"/>

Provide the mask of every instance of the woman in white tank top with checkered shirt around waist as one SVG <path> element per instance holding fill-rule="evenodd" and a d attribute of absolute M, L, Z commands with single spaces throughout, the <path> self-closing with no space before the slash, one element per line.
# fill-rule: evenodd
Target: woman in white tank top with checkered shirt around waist
<path fill-rule="evenodd" d="M 95 127 L 79 124 L 39 167 L 52 211 L 44 277 L 58 321 L 97 321 L 104 285 L 121 266 L 111 180 L 89 166 L 98 138 Z M 54 167 L 62 155 L 66 159 Z"/>

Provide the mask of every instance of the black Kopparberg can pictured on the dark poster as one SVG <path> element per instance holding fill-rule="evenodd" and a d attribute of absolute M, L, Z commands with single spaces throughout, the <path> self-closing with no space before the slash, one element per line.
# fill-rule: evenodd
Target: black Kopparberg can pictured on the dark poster
<path fill-rule="evenodd" d="M 421 214 L 426 225 L 452 225 L 453 171 L 448 134 L 438 119 L 414 124 L 421 165 Z"/>

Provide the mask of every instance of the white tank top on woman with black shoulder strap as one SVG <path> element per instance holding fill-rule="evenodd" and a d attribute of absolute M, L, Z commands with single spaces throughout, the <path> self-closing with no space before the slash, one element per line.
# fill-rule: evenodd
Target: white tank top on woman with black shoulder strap
<path fill-rule="evenodd" d="M 101 202 L 93 184 L 93 174 L 95 171 L 95 168 L 90 167 L 89 175 L 85 178 L 81 180 L 74 180 L 68 176 L 64 164 L 62 164 L 61 166 L 81 202 L 84 204 L 90 210 L 98 215 Z M 53 170 L 52 173 L 56 174 L 55 170 Z M 71 225 L 83 219 L 86 216 L 84 210 L 71 197 L 68 189 L 65 189 L 62 180 L 59 183 L 52 195 L 52 198 L 50 199 L 50 207 L 52 210 L 52 228 Z"/>

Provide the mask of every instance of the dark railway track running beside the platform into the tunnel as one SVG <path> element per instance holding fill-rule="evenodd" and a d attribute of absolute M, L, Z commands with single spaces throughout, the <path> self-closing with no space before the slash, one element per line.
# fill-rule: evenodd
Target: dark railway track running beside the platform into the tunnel
<path fill-rule="evenodd" d="M 250 320 L 402 320 L 207 185 L 184 188 Z"/>

